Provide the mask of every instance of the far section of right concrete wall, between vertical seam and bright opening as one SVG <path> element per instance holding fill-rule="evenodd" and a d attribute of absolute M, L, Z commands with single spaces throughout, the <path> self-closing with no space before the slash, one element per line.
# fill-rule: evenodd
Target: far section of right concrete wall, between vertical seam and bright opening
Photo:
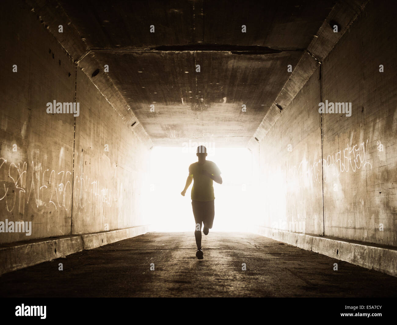
<path fill-rule="evenodd" d="M 262 224 L 322 234 L 321 116 L 317 70 L 259 144 Z M 314 108 L 314 109 L 308 109 Z"/>

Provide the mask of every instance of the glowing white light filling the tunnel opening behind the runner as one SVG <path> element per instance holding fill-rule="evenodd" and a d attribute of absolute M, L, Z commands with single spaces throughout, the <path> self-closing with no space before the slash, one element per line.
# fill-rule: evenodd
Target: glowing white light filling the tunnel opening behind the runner
<path fill-rule="evenodd" d="M 146 204 L 152 231 L 194 231 L 191 188 L 185 196 L 189 165 L 196 148 L 154 147 L 150 158 L 150 193 Z M 257 208 L 252 157 L 247 148 L 207 148 L 207 160 L 218 165 L 222 185 L 214 182 L 215 219 L 212 231 L 251 231 Z"/>

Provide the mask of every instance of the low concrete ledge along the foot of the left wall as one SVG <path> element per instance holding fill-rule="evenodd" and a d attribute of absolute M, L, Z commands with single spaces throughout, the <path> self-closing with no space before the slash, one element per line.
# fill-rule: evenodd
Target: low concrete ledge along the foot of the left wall
<path fill-rule="evenodd" d="M 149 225 L 49 238 L 38 238 L 0 245 L 0 275 L 69 254 L 119 240 L 143 235 Z"/>

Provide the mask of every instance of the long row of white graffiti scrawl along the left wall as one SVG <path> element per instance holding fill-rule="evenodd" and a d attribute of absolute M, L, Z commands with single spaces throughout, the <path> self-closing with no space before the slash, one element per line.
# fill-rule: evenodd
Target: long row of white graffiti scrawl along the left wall
<path fill-rule="evenodd" d="M 27 162 L 16 165 L 0 158 L 0 201 L 5 201 L 8 212 L 23 214 L 32 202 L 37 212 L 44 213 L 44 208 L 68 211 L 73 192 L 74 208 L 112 206 L 112 189 L 101 187 L 99 181 L 76 176 L 73 183 L 70 171 L 42 169 L 41 163 L 32 161 L 28 168 Z"/>

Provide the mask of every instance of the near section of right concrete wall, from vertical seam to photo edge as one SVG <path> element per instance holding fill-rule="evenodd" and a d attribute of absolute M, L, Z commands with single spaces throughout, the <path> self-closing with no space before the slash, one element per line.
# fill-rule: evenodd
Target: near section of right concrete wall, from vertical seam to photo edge
<path fill-rule="evenodd" d="M 353 110 L 323 114 L 326 235 L 397 246 L 395 31 L 388 3 L 371 1 L 324 60 L 323 100 Z"/>

